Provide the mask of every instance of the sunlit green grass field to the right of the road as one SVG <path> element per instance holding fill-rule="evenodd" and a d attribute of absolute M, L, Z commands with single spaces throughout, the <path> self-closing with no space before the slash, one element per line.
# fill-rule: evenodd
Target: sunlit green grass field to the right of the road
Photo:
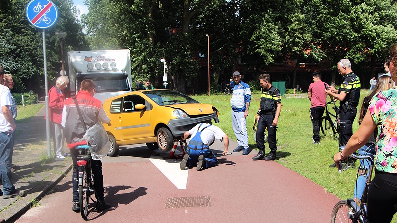
<path fill-rule="evenodd" d="M 361 100 L 368 94 L 368 90 L 361 91 Z M 231 95 L 196 95 L 192 96 L 201 103 L 214 105 L 220 112 L 219 126 L 231 139 L 236 140 L 231 124 Z M 292 97 L 292 98 L 287 98 Z M 329 100 L 329 98 L 327 98 Z M 252 92 L 249 115 L 247 118 L 248 144 L 256 149 L 252 126 L 259 108 L 260 92 Z M 351 198 L 354 192 L 356 169 L 343 171 L 341 174 L 335 168 L 329 168 L 333 163 L 333 156 L 339 151 L 338 141 L 331 137 L 324 137 L 321 145 L 312 145 L 312 122 L 309 117 L 310 101 L 308 98 L 294 98 L 293 95 L 281 98 L 282 110 L 278 119 L 277 156 L 278 163 L 307 177 L 324 187 L 326 191 L 341 199 Z M 339 104 L 339 103 L 337 103 Z M 360 108 L 361 104 L 358 108 Z M 331 108 L 331 106 L 329 107 Z M 330 110 L 332 111 L 332 110 Z M 353 131 L 358 128 L 358 118 L 354 121 Z M 234 149 L 234 148 L 230 148 Z M 265 152 L 269 152 L 265 144 Z M 253 150 L 251 155 L 255 155 Z M 358 162 L 357 162 L 358 164 Z"/>

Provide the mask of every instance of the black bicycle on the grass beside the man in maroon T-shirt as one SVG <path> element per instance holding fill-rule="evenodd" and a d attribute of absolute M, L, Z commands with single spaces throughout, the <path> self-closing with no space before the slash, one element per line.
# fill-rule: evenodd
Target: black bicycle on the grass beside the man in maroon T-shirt
<path fill-rule="evenodd" d="M 335 114 L 332 114 L 328 111 L 327 105 L 333 103 L 333 110 L 335 110 Z M 336 107 L 335 101 L 331 100 L 326 103 L 326 115 L 321 117 L 320 119 L 320 129 L 324 136 L 333 136 L 334 139 L 337 139 L 336 133 L 339 134 L 340 131 L 340 119 L 339 119 L 339 110 Z M 331 116 L 335 119 L 333 122 Z"/>

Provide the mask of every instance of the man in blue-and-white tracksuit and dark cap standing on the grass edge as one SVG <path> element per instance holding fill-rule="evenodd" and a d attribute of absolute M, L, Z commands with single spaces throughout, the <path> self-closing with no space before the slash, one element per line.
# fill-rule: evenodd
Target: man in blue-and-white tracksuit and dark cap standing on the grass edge
<path fill-rule="evenodd" d="M 250 86 L 241 81 L 241 74 L 238 71 L 233 73 L 230 86 L 233 87 L 233 96 L 230 99 L 232 106 L 232 126 L 239 146 L 233 152 L 243 151 L 243 155 L 250 153 L 248 147 L 247 116 L 250 108 L 251 89 Z"/>

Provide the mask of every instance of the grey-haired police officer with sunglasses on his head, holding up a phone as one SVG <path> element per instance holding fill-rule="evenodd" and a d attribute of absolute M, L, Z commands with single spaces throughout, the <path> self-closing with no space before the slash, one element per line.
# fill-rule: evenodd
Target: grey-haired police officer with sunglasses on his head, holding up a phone
<path fill-rule="evenodd" d="M 330 95 L 331 99 L 335 98 L 340 101 L 339 147 L 343 147 L 353 135 L 353 121 L 357 114 L 357 105 L 360 102 L 361 83 L 360 78 L 351 70 L 349 59 L 342 59 L 338 62 L 338 72 L 343 77 L 339 90 L 336 91 L 333 86 L 329 86 L 326 94 Z M 334 164 L 330 167 L 336 167 Z M 352 166 L 354 162 L 348 160 L 349 164 Z"/>

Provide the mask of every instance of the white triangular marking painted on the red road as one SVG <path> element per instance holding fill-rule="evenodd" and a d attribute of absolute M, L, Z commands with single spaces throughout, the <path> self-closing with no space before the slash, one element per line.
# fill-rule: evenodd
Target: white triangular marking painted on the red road
<path fill-rule="evenodd" d="M 156 152 L 158 152 L 156 150 Z M 180 162 L 166 162 L 163 157 L 168 158 L 169 152 L 161 152 L 159 156 L 151 155 L 149 160 L 166 176 L 171 183 L 178 189 L 186 189 L 188 181 L 188 169 L 181 170 L 179 168 Z M 181 155 L 182 152 L 175 151 L 175 155 Z"/>

